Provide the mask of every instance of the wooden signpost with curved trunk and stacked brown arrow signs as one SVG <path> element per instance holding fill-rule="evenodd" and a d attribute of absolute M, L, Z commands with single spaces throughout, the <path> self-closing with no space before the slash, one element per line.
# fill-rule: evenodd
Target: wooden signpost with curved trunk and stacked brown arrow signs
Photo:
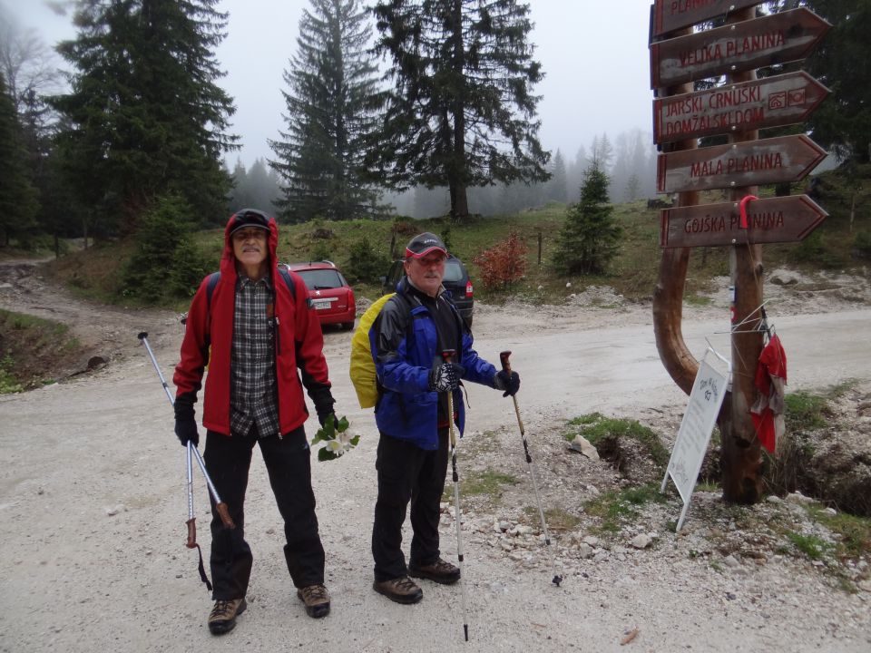
<path fill-rule="evenodd" d="M 830 25 L 804 8 L 758 16 L 758 4 L 654 0 L 651 10 L 654 139 L 669 143 L 657 163 L 657 185 L 660 192 L 678 194 L 675 208 L 661 212 L 654 334 L 663 365 L 690 395 L 691 406 L 693 379 L 698 381 L 701 365 L 680 333 L 690 248 L 729 246 L 734 375 L 717 422 L 722 436 L 723 498 L 740 503 L 758 502 L 762 494 L 761 452 L 749 416 L 766 324 L 761 310 L 761 243 L 804 239 L 826 218 L 826 212 L 805 196 L 749 199 L 760 194 L 759 184 L 802 179 L 826 156 L 804 134 L 760 140 L 758 130 L 802 122 L 827 89 L 807 73 L 758 80 L 755 69 L 802 59 Z M 727 24 L 705 31 L 691 28 L 719 17 L 725 17 Z M 726 75 L 726 83 L 716 88 L 693 87 L 721 75 Z M 728 135 L 729 143 L 698 147 L 700 137 L 717 134 Z M 711 189 L 728 189 L 730 201 L 700 205 L 699 191 Z M 739 213 L 742 203 L 744 219 Z M 684 447 L 673 459 L 677 462 L 670 463 L 676 484 L 684 483 L 681 496 L 688 489 L 691 492 L 694 465 L 690 462 L 699 459 L 700 451 L 695 447 L 689 456 Z"/>

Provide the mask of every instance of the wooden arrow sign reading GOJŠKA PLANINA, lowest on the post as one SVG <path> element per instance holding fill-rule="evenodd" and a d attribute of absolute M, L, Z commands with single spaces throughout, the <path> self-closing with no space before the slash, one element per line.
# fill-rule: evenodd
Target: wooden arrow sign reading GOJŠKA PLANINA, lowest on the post
<path fill-rule="evenodd" d="M 747 229 L 741 229 L 738 202 L 702 204 L 661 211 L 663 248 L 798 242 L 828 216 L 807 195 L 752 200 Z"/>

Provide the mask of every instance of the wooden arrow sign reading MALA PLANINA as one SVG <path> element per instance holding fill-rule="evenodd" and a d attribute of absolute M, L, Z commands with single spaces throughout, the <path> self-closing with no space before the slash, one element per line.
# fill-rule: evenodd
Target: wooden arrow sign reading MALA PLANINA
<path fill-rule="evenodd" d="M 660 154 L 661 193 L 756 186 L 804 179 L 826 151 L 804 134 Z"/>

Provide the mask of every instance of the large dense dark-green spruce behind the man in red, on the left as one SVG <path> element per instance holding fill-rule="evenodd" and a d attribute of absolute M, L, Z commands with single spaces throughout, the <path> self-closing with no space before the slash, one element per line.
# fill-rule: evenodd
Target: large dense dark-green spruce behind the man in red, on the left
<path fill-rule="evenodd" d="M 75 72 L 55 96 L 60 143 L 80 199 L 103 229 L 132 229 L 156 198 L 178 193 L 203 221 L 226 212 L 221 167 L 237 137 L 213 53 L 218 0 L 84 0 L 78 35 L 58 51 Z M 122 219 L 122 224 L 117 220 Z"/>

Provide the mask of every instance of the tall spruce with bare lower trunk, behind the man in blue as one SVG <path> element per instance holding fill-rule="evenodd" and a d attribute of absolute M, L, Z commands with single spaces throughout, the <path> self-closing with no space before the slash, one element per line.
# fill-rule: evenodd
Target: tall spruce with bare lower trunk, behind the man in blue
<path fill-rule="evenodd" d="M 370 155 L 396 188 L 450 190 L 451 217 L 469 214 L 466 189 L 543 181 L 549 154 L 534 120 L 543 79 L 516 0 L 383 0 L 373 11 L 394 88 Z"/>

